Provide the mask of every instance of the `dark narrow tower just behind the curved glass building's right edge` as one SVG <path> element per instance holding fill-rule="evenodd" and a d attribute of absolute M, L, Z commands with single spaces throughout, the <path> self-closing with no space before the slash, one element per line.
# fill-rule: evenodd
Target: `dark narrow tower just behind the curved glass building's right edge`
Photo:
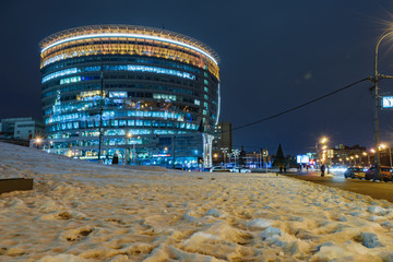
<path fill-rule="evenodd" d="M 231 152 L 231 123 L 218 122 L 214 127 L 214 140 L 213 140 L 213 160 L 215 163 L 225 162 L 225 152 Z"/>

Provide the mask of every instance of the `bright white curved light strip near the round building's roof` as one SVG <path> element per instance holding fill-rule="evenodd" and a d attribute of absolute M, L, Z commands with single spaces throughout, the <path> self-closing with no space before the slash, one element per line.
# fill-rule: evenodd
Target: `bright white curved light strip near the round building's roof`
<path fill-rule="evenodd" d="M 43 48 L 41 53 L 45 52 L 46 50 L 48 50 L 49 48 L 63 44 L 63 43 L 68 43 L 68 41 L 73 41 L 73 40 L 80 40 L 80 39 L 88 39 L 88 38 L 99 38 L 99 37 L 130 37 L 130 38 L 142 38 L 142 39 L 150 39 L 150 40 L 159 40 L 159 41 L 166 41 L 166 43 L 170 43 L 170 44 L 175 44 L 178 46 L 182 46 L 182 47 L 188 47 L 190 49 L 193 49 L 206 57 L 209 57 L 210 59 L 212 59 L 215 64 L 218 66 L 218 62 L 207 52 L 203 51 L 202 49 L 188 45 L 186 43 L 181 43 L 181 41 L 177 41 L 177 40 L 172 40 L 172 39 L 168 39 L 168 38 L 162 38 L 162 37 L 157 37 L 157 36 L 147 36 L 147 35 L 139 35 L 139 34 L 110 34 L 110 33 L 106 33 L 106 34 L 94 34 L 94 35 L 81 35 L 81 36 L 74 36 L 74 37 L 70 37 L 70 38 L 66 38 L 62 40 L 58 40 L 55 41 L 52 44 L 50 44 L 49 46 Z"/>

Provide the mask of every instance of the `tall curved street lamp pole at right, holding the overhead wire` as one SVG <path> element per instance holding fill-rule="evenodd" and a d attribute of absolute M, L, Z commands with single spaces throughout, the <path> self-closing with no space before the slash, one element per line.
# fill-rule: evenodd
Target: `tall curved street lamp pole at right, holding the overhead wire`
<path fill-rule="evenodd" d="M 373 124 L 374 124 L 374 142 L 376 142 L 376 171 L 374 171 L 374 176 L 373 176 L 373 180 L 379 178 L 379 174 L 381 170 L 381 155 L 379 152 L 379 143 L 380 143 L 380 138 L 379 138 L 379 119 L 378 119 L 378 82 L 380 79 L 380 75 L 378 73 L 378 49 L 379 46 L 381 44 L 381 41 L 389 36 L 390 34 L 393 33 L 393 27 L 388 28 L 386 31 L 384 31 L 382 33 L 382 35 L 378 38 L 377 45 L 376 45 L 376 59 L 374 59 L 374 78 L 373 78 L 373 82 L 374 82 L 374 90 L 373 90 L 373 103 L 374 103 L 374 108 L 373 108 Z"/>

